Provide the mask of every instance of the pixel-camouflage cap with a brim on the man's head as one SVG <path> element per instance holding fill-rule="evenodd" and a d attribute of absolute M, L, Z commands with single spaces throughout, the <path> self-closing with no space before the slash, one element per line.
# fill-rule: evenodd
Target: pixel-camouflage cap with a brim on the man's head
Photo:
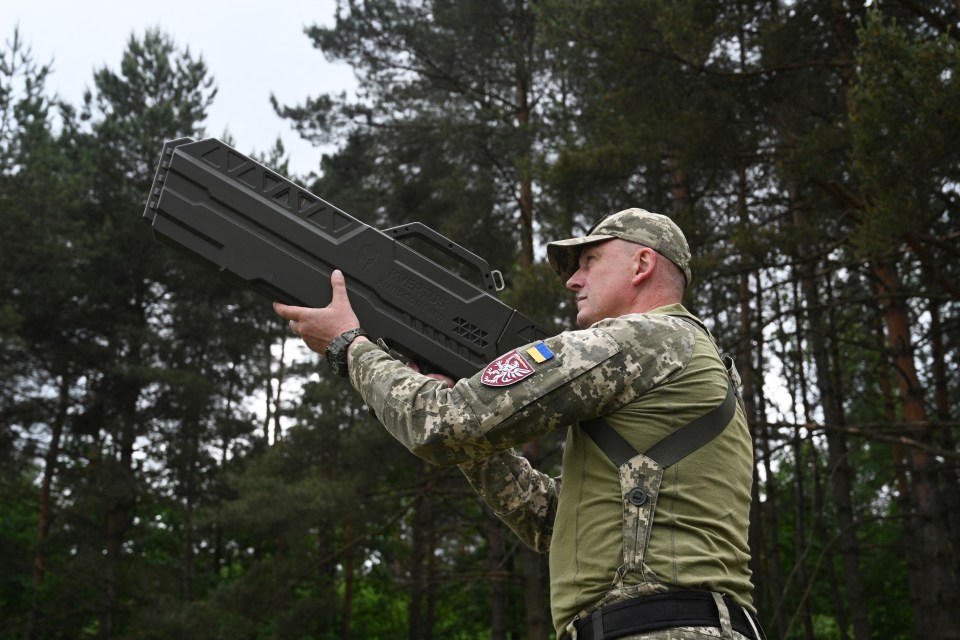
<path fill-rule="evenodd" d="M 567 280 L 576 272 L 585 246 L 613 238 L 650 247 L 677 265 L 690 284 L 690 247 L 683 231 L 667 216 L 636 208 L 608 215 L 582 238 L 547 243 L 550 268 Z"/>

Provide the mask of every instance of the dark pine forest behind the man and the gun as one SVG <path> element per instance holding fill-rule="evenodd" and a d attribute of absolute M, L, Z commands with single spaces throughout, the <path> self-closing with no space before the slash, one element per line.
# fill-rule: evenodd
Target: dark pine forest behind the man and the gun
<path fill-rule="evenodd" d="M 558 331 L 543 244 L 671 215 L 743 375 L 769 635 L 960 637 L 960 2 L 338 7 L 304 37 L 357 92 L 275 104 L 335 149 L 290 177 L 469 247 Z M 141 222 L 216 70 L 134 33 L 68 104 L 7 35 L 0 639 L 551 637 L 544 559 L 459 472 Z M 562 437 L 525 454 L 559 473 Z"/>

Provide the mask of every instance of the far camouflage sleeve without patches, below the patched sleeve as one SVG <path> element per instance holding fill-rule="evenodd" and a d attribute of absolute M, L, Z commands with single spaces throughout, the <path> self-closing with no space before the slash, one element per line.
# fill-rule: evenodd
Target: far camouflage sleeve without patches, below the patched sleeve
<path fill-rule="evenodd" d="M 560 478 L 534 469 L 511 451 L 460 463 L 473 490 L 528 547 L 550 549 Z"/>

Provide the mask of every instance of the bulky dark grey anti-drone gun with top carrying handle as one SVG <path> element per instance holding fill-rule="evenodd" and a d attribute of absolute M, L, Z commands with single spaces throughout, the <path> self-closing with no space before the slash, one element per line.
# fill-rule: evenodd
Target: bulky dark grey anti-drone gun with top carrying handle
<path fill-rule="evenodd" d="M 269 300 L 324 307 L 340 269 L 372 339 L 456 378 L 547 335 L 496 296 L 498 271 L 430 227 L 374 229 L 217 139 L 164 144 L 143 216 L 155 238 Z M 476 282 L 416 251 L 412 239 Z"/>

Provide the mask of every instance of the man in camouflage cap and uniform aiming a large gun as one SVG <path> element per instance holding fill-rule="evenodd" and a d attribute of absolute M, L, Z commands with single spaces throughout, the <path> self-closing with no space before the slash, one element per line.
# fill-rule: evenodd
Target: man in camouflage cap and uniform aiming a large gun
<path fill-rule="evenodd" d="M 732 389 L 713 339 L 680 304 L 691 278 L 683 233 L 665 216 L 627 209 L 547 252 L 576 295 L 579 331 L 456 383 L 420 375 L 360 336 L 347 351 L 351 383 L 404 446 L 458 464 L 526 544 L 549 552 L 558 637 L 761 638 L 748 569 L 753 452 L 740 403 L 719 435 L 677 462 L 661 467 L 638 453 Z M 331 282 L 324 309 L 275 305 L 320 353 L 359 326 L 343 275 Z M 636 455 L 614 463 L 598 447 L 585 428 L 598 416 Z M 562 483 L 512 451 L 560 428 Z"/>

